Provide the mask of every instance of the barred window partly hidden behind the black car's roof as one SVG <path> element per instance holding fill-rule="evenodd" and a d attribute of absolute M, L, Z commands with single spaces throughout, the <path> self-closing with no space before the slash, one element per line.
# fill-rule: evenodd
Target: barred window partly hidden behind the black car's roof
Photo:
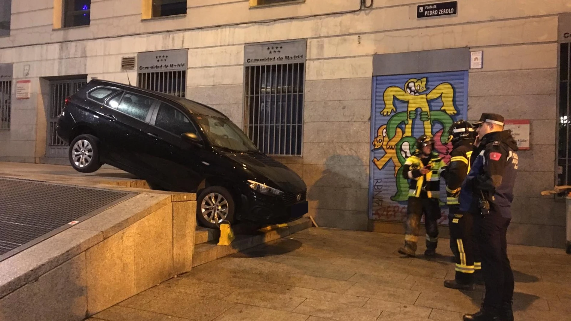
<path fill-rule="evenodd" d="M 140 72 L 138 85 L 147 90 L 183 97 L 186 93 L 186 71 Z"/>

